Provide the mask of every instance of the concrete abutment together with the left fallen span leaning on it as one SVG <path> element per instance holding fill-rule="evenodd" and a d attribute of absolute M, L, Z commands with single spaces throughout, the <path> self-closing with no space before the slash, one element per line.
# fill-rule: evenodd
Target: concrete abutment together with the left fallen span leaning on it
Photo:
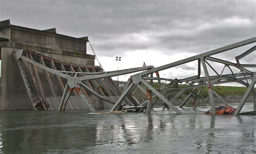
<path fill-rule="evenodd" d="M 55 28 L 35 30 L 10 20 L 0 22 L 0 110 L 111 108 L 121 94 L 111 77 L 151 68 L 103 72 L 95 66 L 95 55 L 86 53 L 87 43 L 88 37 L 64 36 Z M 125 103 L 138 105 L 131 96 Z"/>

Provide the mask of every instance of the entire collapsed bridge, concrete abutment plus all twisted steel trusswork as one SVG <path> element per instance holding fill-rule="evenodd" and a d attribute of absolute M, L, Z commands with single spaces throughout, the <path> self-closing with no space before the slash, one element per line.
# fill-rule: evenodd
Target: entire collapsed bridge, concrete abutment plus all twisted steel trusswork
<path fill-rule="evenodd" d="M 255 57 L 255 37 L 156 68 L 144 66 L 104 72 L 101 67 L 94 66 L 95 55 L 86 54 L 87 37 L 63 36 L 56 34 L 56 29 L 28 29 L 11 25 L 9 20 L 0 22 L 0 30 L 0 109 L 32 107 L 35 110 L 89 109 L 94 112 L 98 108 L 116 111 L 121 104 L 129 104 L 146 105 L 147 113 L 151 113 L 151 109 L 162 102 L 181 114 L 173 101 L 184 92 L 189 92 L 179 108 L 191 98 L 196 104 L 206 87 L 211 110 L 215 114 L 214 97 L 223 104 L 228 103 L 214 91 L 213 85 L 230 82 L 247 87 L 234 114 L 240 113 L 250 94 L 254 96 L 256 109 L 256 64 L 255 61 L 250 64 L 243 61 L 251 55 Z M 244 46 L 250 47 L 242 53 L 235 53 Z M 230 50 L 235 50 L 231 61 L 215 57 Z M 196 66 L 197 73 L 186 78 L 178 78 L 180 75 L 161 78 L 162 71 L 184 65 Z M 137 74 L 131 75 L 121 92 L 111 77 L 130 73 Z M 138 89 L 147 96 L 143 102 L 133 95 Z"/>

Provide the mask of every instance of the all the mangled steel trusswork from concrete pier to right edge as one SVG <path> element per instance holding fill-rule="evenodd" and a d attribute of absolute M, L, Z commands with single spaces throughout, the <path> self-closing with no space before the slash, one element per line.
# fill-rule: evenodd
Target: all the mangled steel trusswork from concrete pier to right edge
<path fill-rule="evenodd" d="M 251 93 L 254 95 L 254 109 L 256 109 L 256 92 L 254 88 L 256 64 L 255 61 L 253 64 L 244 64 L 243 60 L 241 60 L 255 54 L 255 41 L 256 37 L 250 38 L 156 68 L 153 66 L 144 66 L 111 72 L 103 72 L 103 69 L 98 66 L 80 66 L 59 61 L 32 50 L 19 50 L 14 52 L 13 55 L 21 72 L 26 92 L 28 92 L 32 107 L 35 110 L 52 109 L 52 104 L 47 102 L 48 96 L 45 94 L 48 90 L 54 97 L 58 96 L 57 93 L 62 93 L 58 107 L 59 111 L 65 111 L 67 103 L 72 108 L 70 101 L 70 96 L 72 95 L 79 97 L 90 111 L 95 112 L 93 101 L 88 97 L 94 95 L 98 99 L 112 104 L 110 111 L 119 110 L 122 103 L 131 106 L 143 106 L 146 104 L 147 113 L 150 114 L 153 107 L 159 102 L 164 102 L 166 106 L 170 107 L 177 114 L 182 114 L 174 106 L 173 101 L 187 91 L 189 94 L 179 104 L 179 108 L 182 108 L 191 97 L 193 97 L 193 103 L 196 103 L 202 89 L 206 87 L 212 114 L 215 114 L 214 96 L 223 104 L 228 103 L 213 90 L 213 85 L 237 82 L 247 87 L 234 113 L 234 115 L 238 115 Z M 239 47 L 242 46 L 250 46 L 250 49 L 236 54 L 237 56 L 233 57 L 232 60 L 234 62 L 214 57 L 215 55 L 218 57 L 219 53 L 230 50 L 237 52 L 239 51 Z M 232 54 L 235 54 L 235 52 L 232 52 Z M 175 76 L 170 79 L 160 78 L 161 71 L 177 68 L 181 65 L 190 65 L 191 62 L 196 64 L 197 74 L 187 76 L 183 79 L 177 79 Z M 222 66 L 221 68 L 220 65 Z M 113 76 L 136 72 L 137 74 L 131 75 L 130 79 L 127 80 L 123 92 L 120 92 L 120 89 L 111 79 Z M 40 73 L 43 73 L 46 83 L 42 82 L 42 75 L 39 75 Z M 30 82 L 33 83 L 33 89 L 30 87 L 28 74 L 32 77 Z M 55 80 L 58 83 L 57 89 L 52 76 L 55 76 Z M 48 89 L 45 89 L 45 87 L 48 87 Z M 147 96 L 147 100 L 139 102 L 134 97 L 134 93 L 137 93 L 138 89 Z M 33 93 L 32 90 L 36 92 Z M 33 94 L 37 96 L 34 97 Z M 117 101 L 111 99 L 111 96 L 116 96 Z"/>

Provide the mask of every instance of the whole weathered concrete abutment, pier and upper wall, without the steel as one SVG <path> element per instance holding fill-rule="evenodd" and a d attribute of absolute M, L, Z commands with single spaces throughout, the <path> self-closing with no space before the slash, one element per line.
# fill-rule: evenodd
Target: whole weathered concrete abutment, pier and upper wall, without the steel
<path fill-rule="evenodd" d="M 31 109 L 21 74 L 11 55 L 14 51 L 31 49 L 43 52 L 57 60 L 75 62 L 78 65 L 95 65 L 95 56 L 86 54 L 87 39 L 64 36 L 53 33 L 54 31 L 41 31 L 11 25 L 10 20 L 0 22 L 0 30 L 2 59 L 0 110 Z M 41 71 L 39 71 L 40 74 L 42 74 Z M 28 75 L 30 74 L 28 73 Z M 31 79 L 29 82 L 31 89 L 35 92 L 35 86 Z M 43 85 L 47 86 L 47 84 Z M 58 86 L 58 83 L 55 85 Z"/>

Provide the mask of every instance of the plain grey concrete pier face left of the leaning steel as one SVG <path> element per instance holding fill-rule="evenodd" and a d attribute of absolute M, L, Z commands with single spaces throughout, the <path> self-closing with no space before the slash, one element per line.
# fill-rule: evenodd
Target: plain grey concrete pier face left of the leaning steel
<path fill-rule="evenodd" d="M 2 86 L 0 109 L 30 109 L 28 94 L 26 94 L 21 74 L 15 59 L 12 57 L 12 48 L 2 47 Z"/>

